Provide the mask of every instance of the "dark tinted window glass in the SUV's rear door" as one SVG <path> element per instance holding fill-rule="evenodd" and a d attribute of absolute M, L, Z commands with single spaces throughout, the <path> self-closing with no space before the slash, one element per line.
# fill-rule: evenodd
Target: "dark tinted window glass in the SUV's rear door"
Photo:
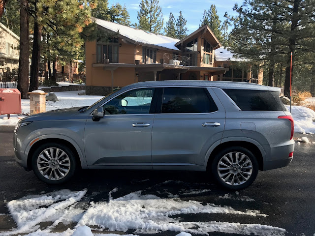
<path fill-rule="evenodd" d="M 164 88 L 161 113 L 210 113 L 218 107 L 205 88 Z"/>

